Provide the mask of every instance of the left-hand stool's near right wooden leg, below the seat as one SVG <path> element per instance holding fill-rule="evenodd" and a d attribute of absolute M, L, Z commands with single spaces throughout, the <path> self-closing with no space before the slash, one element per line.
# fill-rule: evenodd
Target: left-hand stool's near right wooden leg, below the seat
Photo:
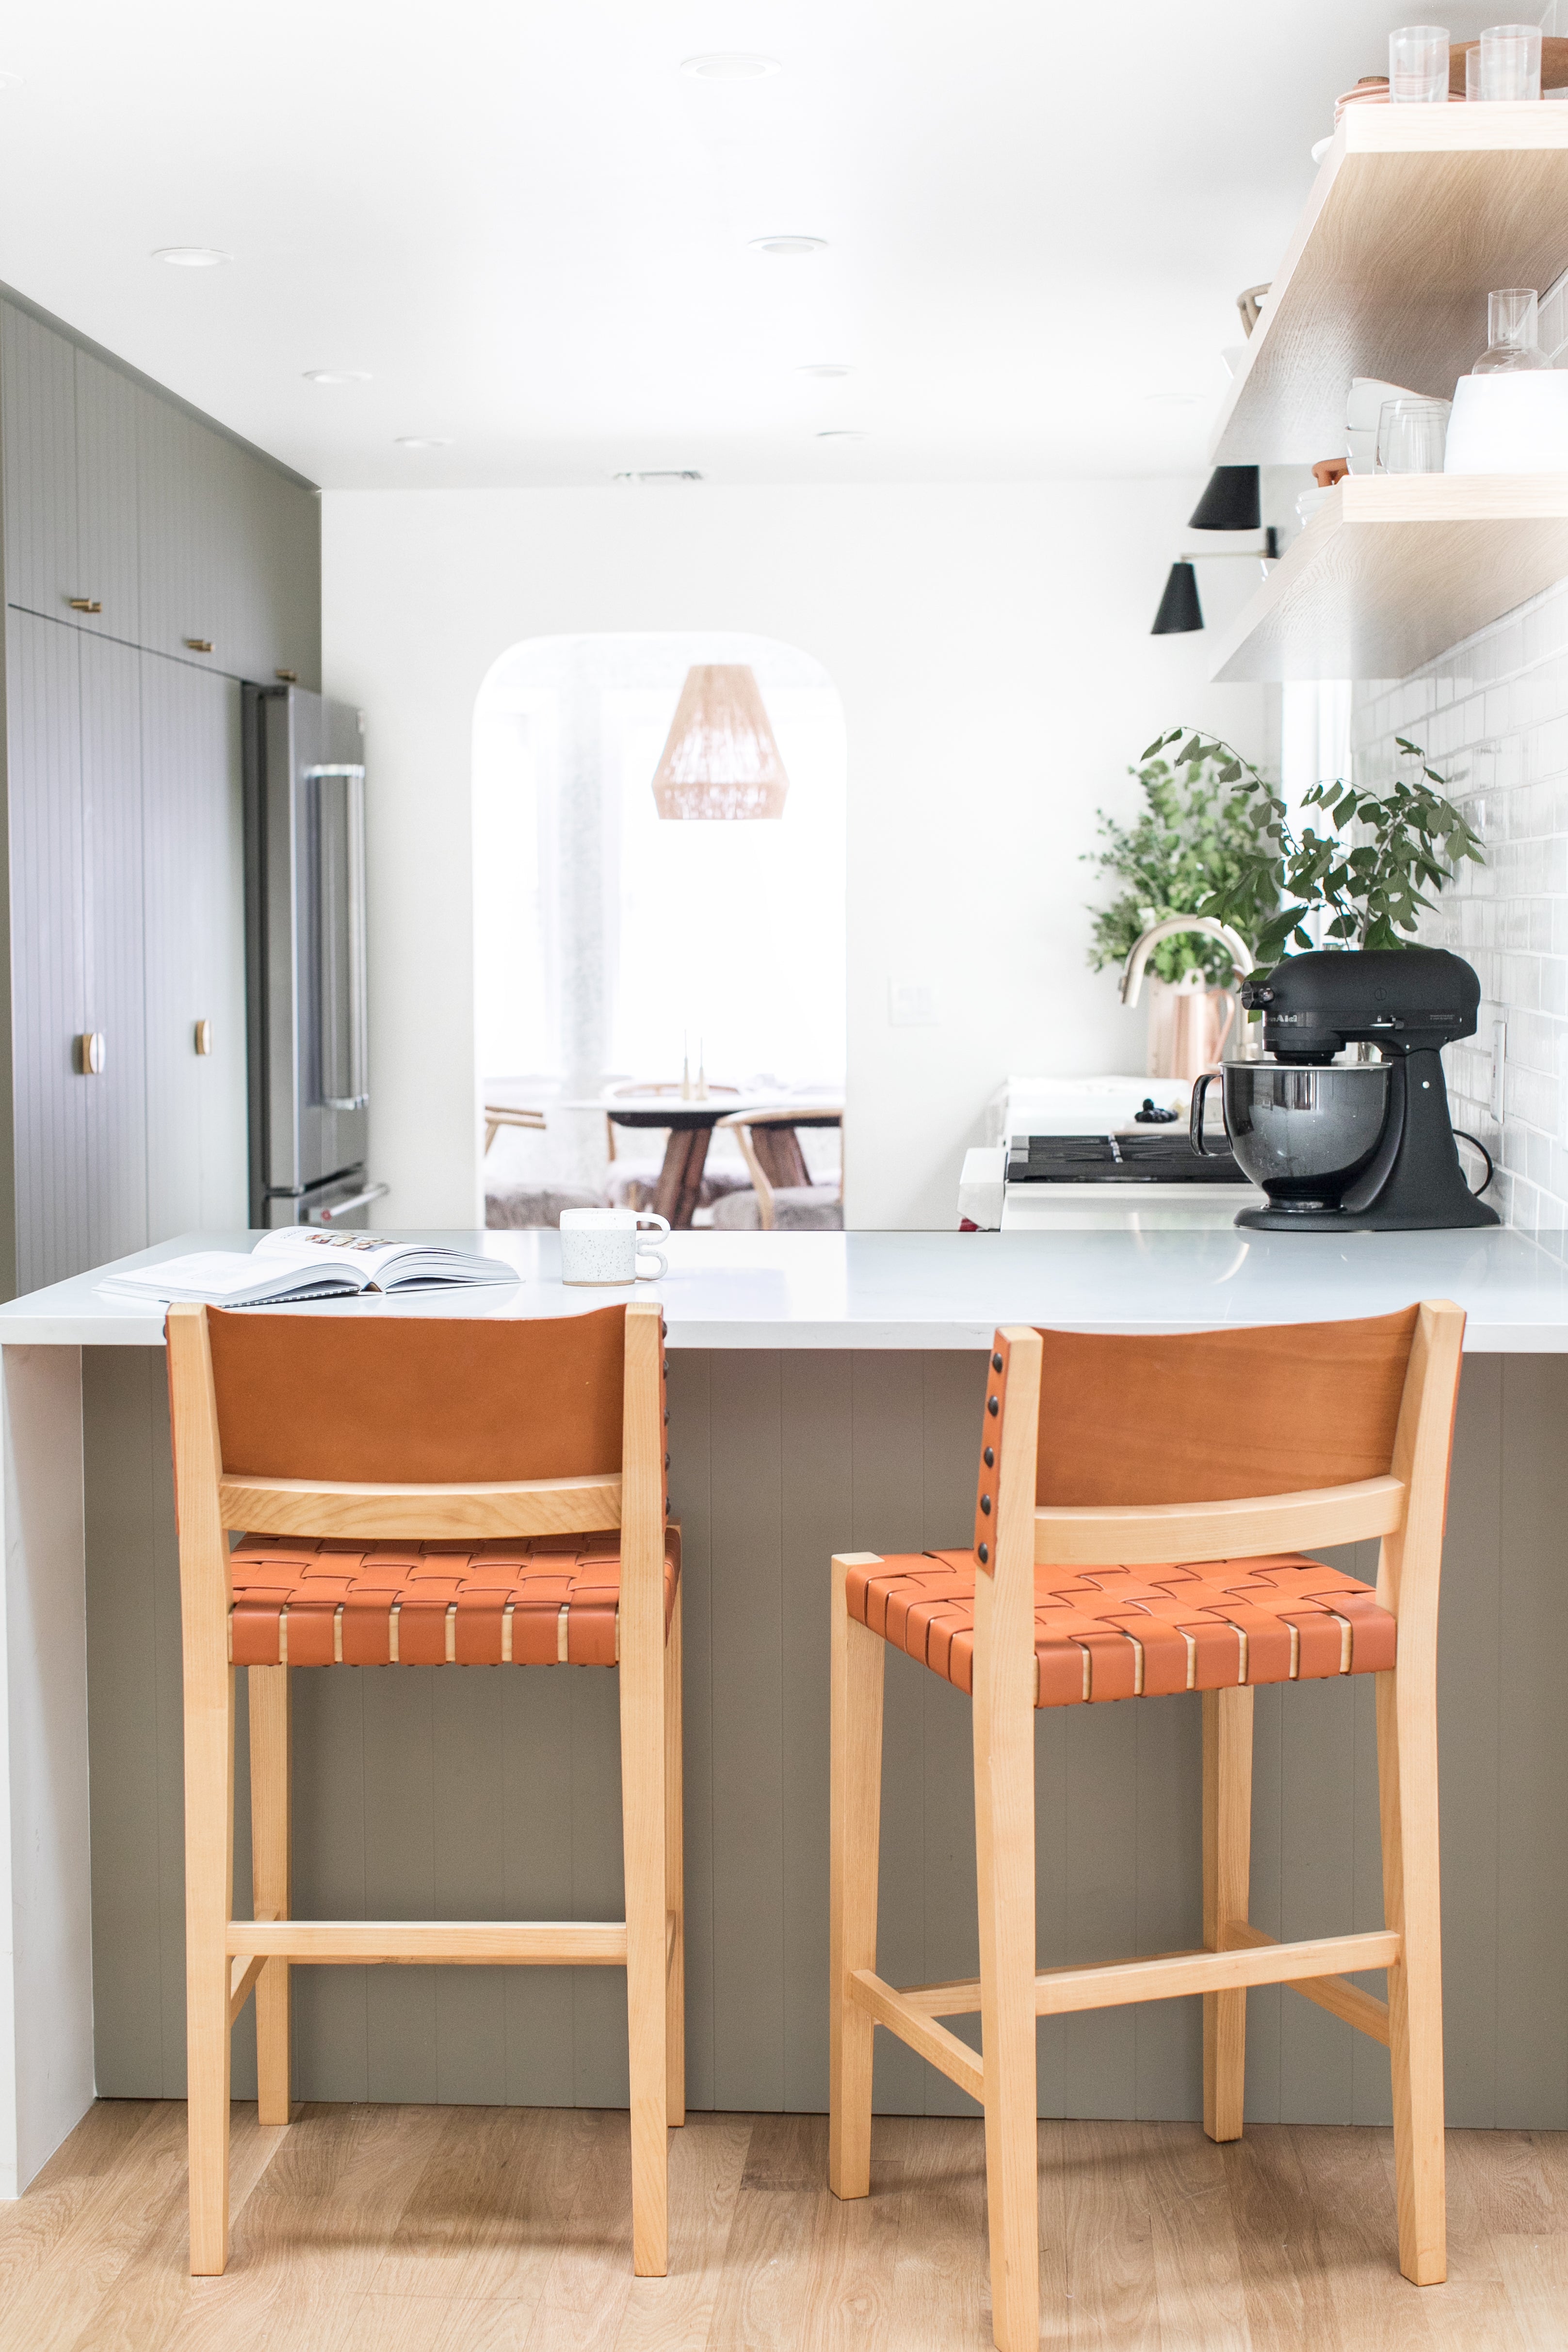
<path fill-rule="evenodd" d="M 621 1839 L 625 1851 L 625 2013 L 632 2074 L 632 2270 L 663 2279 L 670 2267 L 670 2065 L 665 1922 L 665 1639 L 663 1590 L 654 1611 L 628 1623 L 637 1597 L 621 1597 Z M 663 1576 L 658 1578 L 663 1588 Z"/>

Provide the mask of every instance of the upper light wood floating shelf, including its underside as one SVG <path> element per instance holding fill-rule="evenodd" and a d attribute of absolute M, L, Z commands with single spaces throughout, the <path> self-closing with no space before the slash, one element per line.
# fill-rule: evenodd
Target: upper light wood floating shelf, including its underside
<path fill-rule="evenodd" d="M 1568 263 L 1568 106 L 1349 106 L 1232 379 L 1211 463 L 1345 452 L 1352 376 L 1441 400 L 1490 287 Z"/>

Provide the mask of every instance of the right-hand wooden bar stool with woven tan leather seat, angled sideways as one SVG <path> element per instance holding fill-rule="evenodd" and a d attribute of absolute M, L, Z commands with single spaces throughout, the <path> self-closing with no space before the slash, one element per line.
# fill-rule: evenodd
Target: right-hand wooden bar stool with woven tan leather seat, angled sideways
<path fill-rule="evenodd" d="M 870 2192 L 872 2030 L 985 2105 L 992 2326 L 1039 2338 L 1034 2018 L 1204 1994 L 1204 2129 L 1241 2136 L 1246 1987 L 1385 2042 L 1399 2267 L 1446 2277 L 1436 1595 L 1465 1315 L 1182 1338 L 997 1331 L 971 1552 L 832 1562 L 830 2185 Z M 1300 1545 L 1380 1536 L 1378 1585 Z M 1107 1566 L 1114 1562 L 1114 1566 Z M 973 1696 L 980 1976 L 877 1976 L 882 1658 Z M 1248 1924 L 1253 1689 L 1373 1675 L 1385 1926 Z M 1034 1966 L 1034 1708 L 1201 1691 L 1204 1947 Z M 1387 1969 L 1387 2002 L 1347 1971 Z M 980 2013 L 976 2056 L 940 2018 Z"/>

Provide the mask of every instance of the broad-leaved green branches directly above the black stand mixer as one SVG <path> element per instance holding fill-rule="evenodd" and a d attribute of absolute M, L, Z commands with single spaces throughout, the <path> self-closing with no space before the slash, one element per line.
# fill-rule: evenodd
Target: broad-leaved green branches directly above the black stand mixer
<path fill-rule="evenodd" d="M 1159 736 L 1145 760 L 1164 753 L 1185 731 L 1178 727 Z M 1237 877 L 1218 882 L 1199 913 L 1218 915 L 1220 922 L 1234 922 L 1246 931 L 1239 917 L 1253 913 L 1260 894 L 1269 894 L 1274 913 L 1246 931 L 1260 964 L 1279 962 L 1286 946 L 1314 948 L 1316 941 L 1305 922 L 1319 908 L 1328 915 L 1326 943 L 1408 948 L 1420 917 L 1434 908 L 1427 891 L 1446 889 L 1467 858 L 1474 866 L 1486 863 L 1479 835 L 1448 800 L 1448 776 L 1427 767 L 1420 743 L 1406 736 L 1394 741 L 1401 757 L 1418 764 L 1415 781 L 1396 779 L 1380 793 L 1345 779 L 1314 783 L 1302 793 L 1302 807 L 1321 809 L 1333 830 L 1302 826 L 1300 835 L 1291 828 L 1286 802 L 1274 786 L 1239 750 L 1197 734 L 1182 743 L 1178 762 L 1215 762 L 1218 779 L 1229 783 L 1234 800 L 1253 814 L 1255 847 L 1244 854 Z"/>

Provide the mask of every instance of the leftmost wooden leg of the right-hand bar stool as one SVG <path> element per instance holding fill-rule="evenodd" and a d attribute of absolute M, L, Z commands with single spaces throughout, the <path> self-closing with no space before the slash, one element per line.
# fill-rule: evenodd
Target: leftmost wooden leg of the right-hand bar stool
<path fill-rule="evenodd" d="M 882 1839 L 879 1635 L 844 1604 L 846 1559 L 832 1562 L 832 1860 L 827 1992 L 827 2187 L 870 2197 L 872 2020 L 844 1997 L 856 1969 L 877 1966 L 877 1846 Z"/>

